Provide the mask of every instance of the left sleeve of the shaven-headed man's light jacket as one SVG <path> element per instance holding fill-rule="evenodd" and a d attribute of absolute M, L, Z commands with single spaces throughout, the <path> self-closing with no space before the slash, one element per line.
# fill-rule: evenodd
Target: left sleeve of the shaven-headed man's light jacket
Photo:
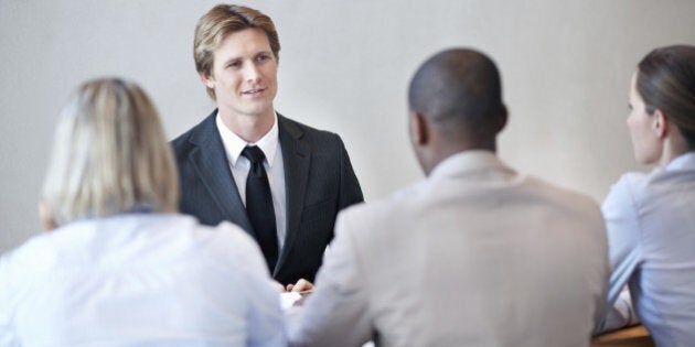
<path fill-rule="evenodd" d="M 340 215 L 316 290 L 290 323 L 290 346 L 362 346 L 372 337 L 366 285 L 349 225 Z"/>

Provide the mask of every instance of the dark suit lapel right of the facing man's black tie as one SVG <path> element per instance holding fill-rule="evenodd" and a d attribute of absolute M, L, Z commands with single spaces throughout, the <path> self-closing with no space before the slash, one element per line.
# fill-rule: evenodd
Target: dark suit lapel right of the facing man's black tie
<path fill-rule="evenodd" d="M 282 164 L 285 165 L 285 192 L 287 194 L 287 232 L 285 246 L 275 268 L 275 272 L 282 268 L 299 230 L 302 207 L 304 206 L 304 192 L 309 177 L 309 164 L 311 150 L 301 141 L 303 131 L 295 123 L 278 113 L 278 132 L 282 150 Z"/>

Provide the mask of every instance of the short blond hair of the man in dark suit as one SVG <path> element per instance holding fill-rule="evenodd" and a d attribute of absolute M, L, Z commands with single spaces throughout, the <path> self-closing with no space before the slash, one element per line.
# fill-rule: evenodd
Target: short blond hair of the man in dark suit
<path fill-rule="evenodd" d="M 193 59 L 199 74 L 212 74 L 214 53 L 220 43 L 229 34 L 244 29 L 256 28 L 268 36 L 270 51 L 279 61 L 280 39 L 270 17 L 252 8 L 236 4 L 217 4 L 205 13 L 195 25 L 193 39 Z M 207 88 L 207 95 L 214 100 L 215 91 Z"/>

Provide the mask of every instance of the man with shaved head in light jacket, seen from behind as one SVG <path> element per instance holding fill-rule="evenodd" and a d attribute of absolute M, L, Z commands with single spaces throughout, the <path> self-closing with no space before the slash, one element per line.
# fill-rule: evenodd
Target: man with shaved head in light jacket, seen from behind
<path fill-rule="evenodd" d="M 498 159 L 501 89 L 472 50 L 419 67 L 409 130 L 427 178 L 339 215 L 292 345 L 589 345 L 608 279 L 599 207 Z"/>

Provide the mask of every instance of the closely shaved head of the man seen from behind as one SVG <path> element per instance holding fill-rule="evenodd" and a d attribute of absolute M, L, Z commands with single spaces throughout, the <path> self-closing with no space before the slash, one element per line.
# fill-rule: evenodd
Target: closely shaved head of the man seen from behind
<path fill-rule="evenodd" d="M 427 59 L 410 82 L 408 104 L 445 141 L 471 148 L 491 141 L 494 147 L 506 117 L 498 68 L 484 54 L 467 48 Z"/>

